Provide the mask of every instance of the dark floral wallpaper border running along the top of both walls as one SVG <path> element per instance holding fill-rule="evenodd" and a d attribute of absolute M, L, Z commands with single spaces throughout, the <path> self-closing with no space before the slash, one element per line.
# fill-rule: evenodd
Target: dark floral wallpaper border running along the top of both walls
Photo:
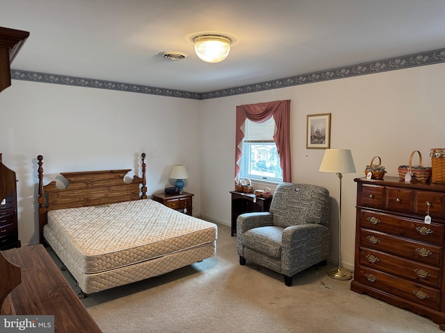
<path fill-rule="evenodd" d="M 57 74 L 45 74 L 35 71 L 21 71 L 11 69 L 11 78 L 15 80 L 26 80 L 40 83 L 54 83 L 58 85 L 73 85 L 76 87 L 90 87 L 99 89 L 118 90 L 121 92 L 136 92 L 140 94 L 152 94 L 158 96 L 178 97 L 181 99 L 216 99 L 219 97 L 234 96 L 238 94 L 248 94 L 250 92 L 262 92 L 270 89 L 292 87 L 295 85 L 305 85 L 326 80 L 337 80 L 339 78 L 349 78 L 353 76 L 380 73 L 383 71 L 394 71 L 410 67 L 419 67 L 445 62 L 445 49 L 417 53 L 410 56 L 401 56 L 386 60 L 366 62 L 359 65 L 327 69 L 308 74 L 298 74 L 287 78 L 269 80 L 251 85 L 242 85 L 228 89 L 220 89 L 212 92 L 185 92 L 182 90 L 164 89 L 159 87 L 149 87 L 146 85 L 133 85 L 131 83 L 121 83 L 107 80 L 97 80 L 94 78 L 78 78 L 75 76 L 63 76 Z"/>

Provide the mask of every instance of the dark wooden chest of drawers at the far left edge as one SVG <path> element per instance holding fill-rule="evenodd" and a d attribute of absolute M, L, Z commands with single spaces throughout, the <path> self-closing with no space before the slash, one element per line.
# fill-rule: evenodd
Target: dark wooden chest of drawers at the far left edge
<path fill-rule="evenodd" d="M 0 250 L 19 248 L 17 228 L 17 179 L 1 162 L 0 154 Z"/>

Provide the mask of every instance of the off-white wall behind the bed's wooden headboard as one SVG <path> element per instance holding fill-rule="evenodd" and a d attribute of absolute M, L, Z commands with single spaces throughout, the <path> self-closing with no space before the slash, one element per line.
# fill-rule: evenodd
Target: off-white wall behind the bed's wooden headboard
<path fill-rule="evenodd" d="M 19 239 L 38 243 L 37 155 L 44 184 L 60 172 L 133 169 L 147 153 L 148 194 L 184 164 L 200 214 L 200 101 L 13 80 L 0 94 L 0 153 L 17 173 Z M 129 180 L 133 171 L 128 174 Z"/>

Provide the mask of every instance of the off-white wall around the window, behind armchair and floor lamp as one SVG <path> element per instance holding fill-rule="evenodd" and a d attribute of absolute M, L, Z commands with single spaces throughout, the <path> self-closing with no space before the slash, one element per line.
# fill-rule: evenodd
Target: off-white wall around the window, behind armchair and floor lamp
<path fill-rule="evenodd" d="M 407 164 L 414 150 L 421 152 L 424 166 L 431 165 L 430 148 L 445 147 L 444 76 L 445 64 L 439 64 L 202 101 L 202 215 L 230 223 L 236 105 L 291 99 L 293 182 L 329 189 L 334 220 L 331 259 L 337 261 L 339 180 L 318 171 L 324 150 L 306 149 L 305 142 L 307 114 L 330 112 L 331 148 L 350 148 L 357 169 L 343 175 L 342 187 L 341 260 L 353 268 L 353 180 L 364 176 L 375 155 L 382 158 L 387 176 L 398 176 L 398 166 Z"/>

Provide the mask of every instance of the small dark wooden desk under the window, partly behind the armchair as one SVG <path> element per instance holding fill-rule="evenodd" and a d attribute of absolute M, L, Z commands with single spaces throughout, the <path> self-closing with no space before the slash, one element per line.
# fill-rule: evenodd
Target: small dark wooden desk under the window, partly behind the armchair
<path fill-rule="evenodd" d="M 268 212 L 272 197 L 261 198 L 251 193 L 230 191 L 232 194 L 232 234 L 236 235 L 236 219 L 243 213 Z"/>

